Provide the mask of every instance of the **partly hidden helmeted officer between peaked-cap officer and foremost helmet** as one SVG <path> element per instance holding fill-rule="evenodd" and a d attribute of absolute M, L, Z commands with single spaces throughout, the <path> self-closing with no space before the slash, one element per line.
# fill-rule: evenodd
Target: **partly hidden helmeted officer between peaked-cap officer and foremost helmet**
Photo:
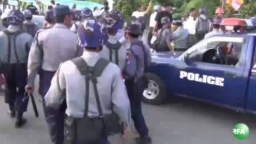
<path fill-rule="evenodd" d="M 93 12 L 89 8 L 84 8 L 81 10 L 80 14 L 81 22 L 74 22 L 73 26 L 70 28 L 74 33 L 78 32 L 78 27 L 81 26 L 81 23 L 87 18 L 94 18 Z"/>

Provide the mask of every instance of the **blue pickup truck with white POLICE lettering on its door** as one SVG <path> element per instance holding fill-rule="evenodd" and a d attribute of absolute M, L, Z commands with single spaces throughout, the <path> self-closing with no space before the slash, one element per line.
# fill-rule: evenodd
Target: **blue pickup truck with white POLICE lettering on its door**
<path fill-rule="evenodd" d="M 255 114 L 255 42 L 256 34 L 218 34 L 184 53 L 152 54 L 143 102 L 184 97 Z"/>

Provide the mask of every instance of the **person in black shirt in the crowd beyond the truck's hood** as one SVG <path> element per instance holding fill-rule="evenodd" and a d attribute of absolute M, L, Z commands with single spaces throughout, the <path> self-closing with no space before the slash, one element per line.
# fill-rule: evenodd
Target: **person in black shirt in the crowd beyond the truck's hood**
<path fill-rule="evenodd" d="M 163 2 L 162 3 L 162 11 L 157 14 L 157 16 L 154 18 L 154 30 L 153 33 L 156 34 L 158 30 L 162 28 L 161 20 L 164 17 L 170 18 L 170 22 L 173 21 L 172 14 L 170 14 L 170 10 L 168 8 L 168 3 Z"/>

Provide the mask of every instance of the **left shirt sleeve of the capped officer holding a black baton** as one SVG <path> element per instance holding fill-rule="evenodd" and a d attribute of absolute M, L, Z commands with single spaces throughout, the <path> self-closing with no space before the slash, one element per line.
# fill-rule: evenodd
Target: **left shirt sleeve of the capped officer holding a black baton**
<path fill-rule="evenodd" d="M 42 64 L 42 52 L 39 49 L 38 37 L 34 38 L 27 63 L 27 84 L 34 86 L 34 79 L 38 74 L 38 70 Z"/>

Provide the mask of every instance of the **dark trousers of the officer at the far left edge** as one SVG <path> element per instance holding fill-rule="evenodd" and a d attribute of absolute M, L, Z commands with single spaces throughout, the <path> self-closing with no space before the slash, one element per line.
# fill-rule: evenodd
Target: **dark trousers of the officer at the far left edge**
<path fill-rule="evenodd" d="M 18 113 L 26 111 L 29 97 L 25 97 L 26 86 L 26 63 L 5 64 L 3 75 L 6 79 L 5 102 L 9 104 L 10 110 Z"/>

